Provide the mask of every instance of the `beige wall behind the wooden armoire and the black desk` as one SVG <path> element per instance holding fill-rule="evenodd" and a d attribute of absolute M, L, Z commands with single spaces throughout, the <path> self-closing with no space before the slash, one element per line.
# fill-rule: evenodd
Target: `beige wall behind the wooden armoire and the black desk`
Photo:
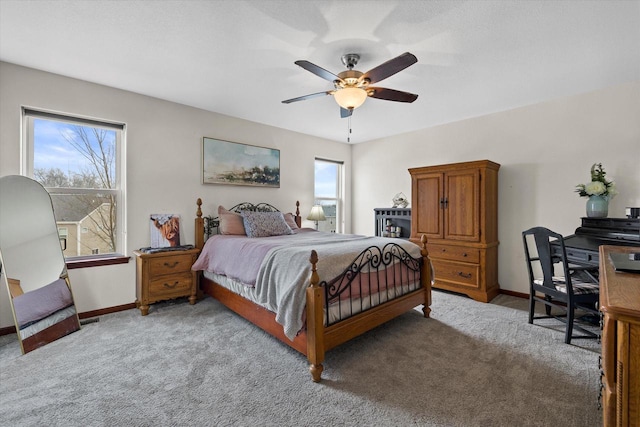
<path fill-rule="evenodd" d="M 374 208 L 391 206 L 400 191 L 411 194 L 408 168 L 500 163 L 500 286 L 528 293 L 521 232 L 542 225 L 572 234 L 586 203 L 573 191 L 589 180 L 593 163 L 604 165 L 620 192 L 610 217 L 640 206 L 640 82 L 358 144 L 352 158 L 359 234 L 374 232 Z"/>

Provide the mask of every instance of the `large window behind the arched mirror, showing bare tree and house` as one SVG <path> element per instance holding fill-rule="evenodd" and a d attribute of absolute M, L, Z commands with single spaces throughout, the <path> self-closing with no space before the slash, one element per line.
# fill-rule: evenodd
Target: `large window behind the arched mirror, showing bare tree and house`
<path fill-rule="evenodd" d="M 51 196 L 67 261 L 125 253 L 124 125 L 23 109 L 23 174 Z"/>

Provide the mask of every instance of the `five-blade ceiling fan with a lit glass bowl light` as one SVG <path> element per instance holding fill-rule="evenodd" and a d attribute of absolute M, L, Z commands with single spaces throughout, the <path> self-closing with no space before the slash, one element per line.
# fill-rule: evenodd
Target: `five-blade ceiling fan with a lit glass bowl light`
<path fill-rule="evenodd" d="M 353 69 L 360 59 L 360 55 L 357 53 L 347 53 L 346 55 L 342 55 L 341 59 L 342 63 L 347 67 L 347 70 L 337 75 L 309 61 L 296 61 L 296 65 L 332 82 L 335 89 L 299 96 L 282 102 L 290 104 L 296 101 L 333 95 L 333 98 L 340 106 L 340 117 L 344 118 L 350 117 L 353 110 L 361 106 L 367 97 L 397 102 L 413 102 L 418 98 L 418 95 L 413 93 L 370 86 L 418 62 L 418 59 L 413 54 L 405 52 L 400 56 L 372 68 L 366 73 Z"/>

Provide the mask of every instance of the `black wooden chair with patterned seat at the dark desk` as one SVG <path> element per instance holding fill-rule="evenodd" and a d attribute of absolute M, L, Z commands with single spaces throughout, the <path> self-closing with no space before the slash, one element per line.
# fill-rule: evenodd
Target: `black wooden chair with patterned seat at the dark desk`
<path fill-rule="evenodd" d="M 529 323 L 533 324 L 534 319 L 548 318 L 565 322 L 564 342 L 567 344 L 571 344 L 572 338 L 597 338 L 597 334 L 574 324 L 576 309 L 599 315 L 600 288 L 594 278 L 594 268 L 569 265 L 562 235 L 547 228 L 534 227 L 523 231 L 522 241 L 529 271 Z M 560 246 L 558 255 L 552 255 L 552 243 Z M 556 270 L 562 275 L 556 276 Z M 546 316 L 534 316 L 536 302 L 544 304 Z M 553 307 L 562 310 L 562 315 L 552 314 Z M 574 328 L 583 335 L 573 335 Z"/>

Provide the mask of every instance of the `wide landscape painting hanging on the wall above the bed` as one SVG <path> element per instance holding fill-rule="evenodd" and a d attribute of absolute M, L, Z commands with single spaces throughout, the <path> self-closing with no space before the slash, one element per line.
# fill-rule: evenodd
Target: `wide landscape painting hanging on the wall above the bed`
<path fill-rule="evenodd" d="M 280 188 L 280 150 L 203 137 L 202 183 Z"/>

